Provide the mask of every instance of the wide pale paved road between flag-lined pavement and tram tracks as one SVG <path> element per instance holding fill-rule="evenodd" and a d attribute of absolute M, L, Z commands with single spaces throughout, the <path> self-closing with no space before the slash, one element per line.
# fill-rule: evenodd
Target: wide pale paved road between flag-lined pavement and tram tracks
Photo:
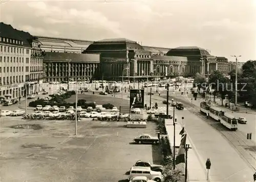
<path fill-rule="evenodd" d="M 166 97 L 166 96 L 165 96 Z M 172 97 L 176 97 L 173 95 Z M 172 98 L 171 97 L 171 98 Z M 184 96 L 177 95 L 177 98 L 190 103 L 189 99 Z M 154 96 L 154 99 L 164 100 L 159 96 Z M 193 101 L 194 102 L 194 101 Z M 185 106 L 190 104 L 185 104 Z M 178 114 L 178 122 L 182 122 L 181 117 L 184 117 L 186 130 L 193 141 L 198 154 L 201 158 L 201 163 L 204 165 L 207 158 L 211 160 L 210 181 L 251 181 L 254 171 L 251 167 L 241 158 L 239 153 L 230 143 L 223 137 L 223 135 L 215 129 L 218 126 L 212 120 L 206 118 L 198 111 L 184 110 Z M 223 131 L 229 132 L 229 131 Z M 188 159 L 189 160 L 189 159 Z"/>

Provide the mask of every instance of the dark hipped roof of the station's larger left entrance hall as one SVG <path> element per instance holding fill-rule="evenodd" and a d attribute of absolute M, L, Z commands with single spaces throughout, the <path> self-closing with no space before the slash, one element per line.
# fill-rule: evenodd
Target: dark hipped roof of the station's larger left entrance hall
<path fill-rule="evenodd" d="M 82 53 L 102 53 L 108 51 L 144 50 L 136 41 L 125 38 L 103 39 L 93 42 Z"/>

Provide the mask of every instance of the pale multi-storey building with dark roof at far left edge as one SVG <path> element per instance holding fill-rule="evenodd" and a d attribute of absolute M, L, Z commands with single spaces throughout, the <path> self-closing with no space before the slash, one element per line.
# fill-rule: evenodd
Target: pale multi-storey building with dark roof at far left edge
<path fill-rule="evenodd" d="M 13 29 L 12 26 L 0 23 L 0 96 L 7 99 L 19 98 L 39 92 L 30 87 L 30 67 L 33 36 L 27 32 Z M 42 71 L 41 71 L 42 74 Z M 34 85 L 39 85 L 38 77 Z"/>

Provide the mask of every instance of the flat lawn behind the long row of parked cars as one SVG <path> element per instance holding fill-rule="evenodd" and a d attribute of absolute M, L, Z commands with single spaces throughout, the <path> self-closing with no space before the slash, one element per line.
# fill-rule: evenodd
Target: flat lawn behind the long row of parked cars
<path fill-rule="evenodd" d="M 119 99 L 115 98 L 113 96 L 101 96 L 101 95 L 83 95 L 83 94 L 78 94 L 77 99 L 83 99 L 86 100 L 87 102 L 96 102 L 98 105 L 103 105 L 103 104 L 113 104 L 116 107 L 119 106 L 129 106 L 129 100 L 124 100 L 124 99 Z M 66 102 L 75 102 L 76 101 L 76 96 L 73 95 L 70 98 L 66 99 Z"/>

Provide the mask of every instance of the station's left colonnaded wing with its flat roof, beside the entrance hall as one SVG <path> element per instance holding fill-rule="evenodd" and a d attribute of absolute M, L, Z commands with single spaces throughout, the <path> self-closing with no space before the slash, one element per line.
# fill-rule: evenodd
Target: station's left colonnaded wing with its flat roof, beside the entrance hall
<path fill-rule="evenodd" d="M 99 77 L 100 55 L 46 52 L 44 80 L 46 82 L 92 80 Z"/>

